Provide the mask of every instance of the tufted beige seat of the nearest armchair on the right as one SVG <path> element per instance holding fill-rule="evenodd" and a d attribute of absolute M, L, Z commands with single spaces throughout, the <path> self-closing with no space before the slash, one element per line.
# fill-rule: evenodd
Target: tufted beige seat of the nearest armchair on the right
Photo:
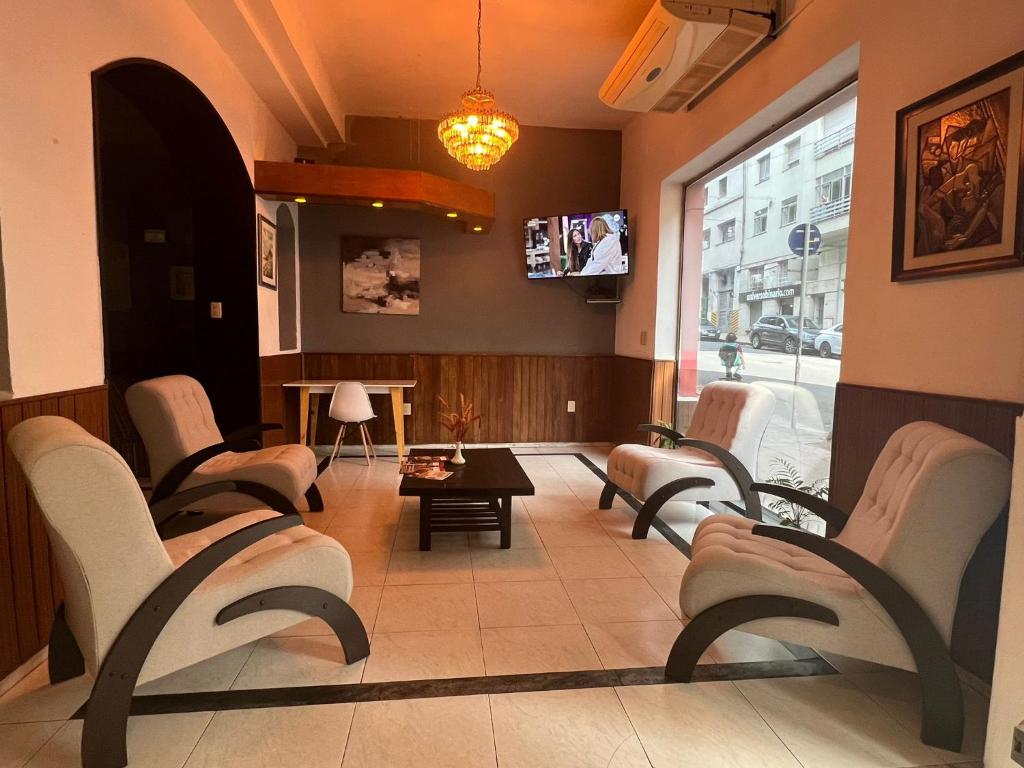
<path fill-rule="evenodd" d="M 693 557 L 683 575 L 679 606 L 684 618 L 725 600 L 783 595 L 836 611 L 838 628 L 809 620 L 768 618 L 744 632 L 809 645 L 903 669 L 913 658 L 885 609 L 853 579 L 816 555 L 754 536 L 753 520 L 714 515 L 693 537 Z"/>

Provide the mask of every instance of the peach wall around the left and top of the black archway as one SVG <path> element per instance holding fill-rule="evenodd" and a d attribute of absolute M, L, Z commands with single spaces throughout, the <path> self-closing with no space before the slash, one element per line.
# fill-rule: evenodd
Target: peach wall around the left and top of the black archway
<path fill-rule="evenodd" d="M 13 391 L 99 384 L 90 73 L 126 57 L 173 67 L 210 98 L 250 170 L 254 159 L 290 160 L 295 144 L 178 0 L 12 3 L 0 24 L 0 224 Z"/>

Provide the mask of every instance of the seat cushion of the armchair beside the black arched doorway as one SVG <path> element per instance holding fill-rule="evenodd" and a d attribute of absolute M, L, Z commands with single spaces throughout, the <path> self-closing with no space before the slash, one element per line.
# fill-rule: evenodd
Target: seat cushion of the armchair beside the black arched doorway
<path fill-rule="evenodd" d="M 181 489 L 221 480 L 249 480 L 268 485 L 298 503 L 316 479 L 316 457 L 305 445 L 273 445 L 245 453 L 218 454 L 201 464 L 181 483 Z M 253 500 L 239 494 L 204 499 L 206 510 L 251 509 Z"/>

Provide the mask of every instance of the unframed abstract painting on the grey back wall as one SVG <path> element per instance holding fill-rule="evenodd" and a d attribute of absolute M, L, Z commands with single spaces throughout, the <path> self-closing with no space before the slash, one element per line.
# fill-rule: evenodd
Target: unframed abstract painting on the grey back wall
<path fill-rule="evenodd" d="M 420 241 L 341 239 L 341 311 L 420 313 Z"/>

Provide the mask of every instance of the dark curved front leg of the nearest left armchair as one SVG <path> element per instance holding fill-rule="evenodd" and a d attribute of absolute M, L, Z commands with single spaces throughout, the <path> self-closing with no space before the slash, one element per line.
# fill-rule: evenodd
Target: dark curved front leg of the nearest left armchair
<path fill-rule="evenodd" d="M 370 655 L 370 640 L 358 614 L 337 595 L 316 587 L 274 587 L 243 597 L 217 613 L 217 625 L 260 610 L 297 610 L 323 618 L 334 631 L 346 664 L 355 664 Z"/>

